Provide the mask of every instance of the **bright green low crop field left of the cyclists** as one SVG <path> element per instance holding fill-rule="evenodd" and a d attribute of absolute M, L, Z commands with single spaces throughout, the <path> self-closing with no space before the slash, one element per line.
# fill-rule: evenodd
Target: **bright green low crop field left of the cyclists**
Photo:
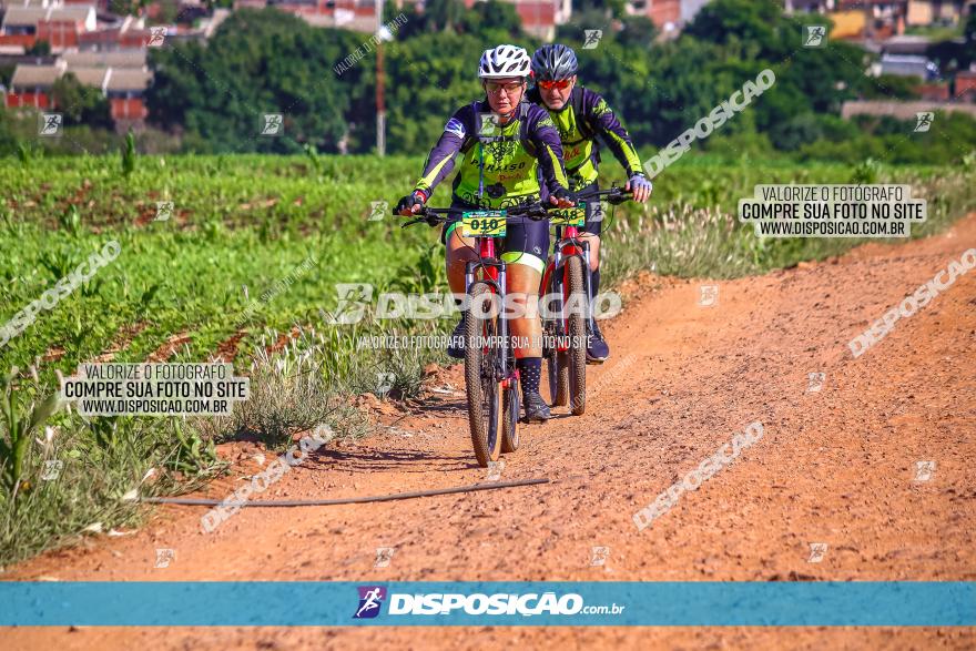
<path fill-rule="evenodd" d="M 400 232 L 392 217 L 367 221 L 373 201 L 395 201 L 373 180 L 398 179 L 407 187 L 418 166 L 416 160 L 337 156 L 143 156 L 126 176 L 115 156 L 8 163 L 0 206 L 6 318 L 106 241 L 118 240 L 122 253 L 55 309 L 39 313 L 30 332 L 0 356 L 26 368 L 61 347 L 57 368 L 68 373 L 79 359 L 130 338 L 126 325 L 140 328 L 119 353 L 122 360 L 144 358 L 183 332 L 192 335 L 190 355 L 201 358 L 248 314 L 252 329 L 311 323 L 334 301 L 325 286 L 385 285 L 419 255 L 427 233 Z M 159 202 L 173 203 L 167 221 L 155 221 Z M 286 293 L 247 312 L 252 299 L 309 256 L 317 264 Z M 257 336 L 243 340 L 242 349 Z"/>

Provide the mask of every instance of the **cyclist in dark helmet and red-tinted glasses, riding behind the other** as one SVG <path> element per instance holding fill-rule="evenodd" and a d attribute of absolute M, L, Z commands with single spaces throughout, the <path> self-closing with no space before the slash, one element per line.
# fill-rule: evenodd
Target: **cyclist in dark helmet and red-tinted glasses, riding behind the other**
<path fill-rule="evenodd" d="M 579 63 L 576 52 L 558 43 L 542 45 L 532 55 L 532 73 L 536 85 L 528 100 L 547 109 L 562 140 L 562 157 L 569 189 L 577 192 L 596 190 L 597 167 L 600 163 L 597 136 L 601 136 L 613 156 L 627 171 L 627 190 L 633 191 L 633 200 L 645 202 L 651 196 L 651 182 L 644 175 L 640 156 L 630 141 L 627 130 L 598 93 L 577 85 Z M 603 214 L 597 202 L 587 204 L 587 223 L 582 236 L 590 243 L 591 291 L 600 289 L 600 226 Z M 592 296 L 591 296 L 592 298 Z M 590 333 L 587 359 L 601 363 L 610 356 L 610 347 L 603 340 L 599 326 Z"/>

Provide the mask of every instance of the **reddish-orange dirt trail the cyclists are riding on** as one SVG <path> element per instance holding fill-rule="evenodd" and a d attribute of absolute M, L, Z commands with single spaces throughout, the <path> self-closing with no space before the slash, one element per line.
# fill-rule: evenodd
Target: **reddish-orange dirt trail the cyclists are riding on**
<path fill-rule="evenodd" d="M 45 555 L 4 578 L 61 580 L 976 580 L 976 272 L 878 345 L 847 342 L 976 246 L 976 215 L 903 245 L 699 286 L 645 276 L 603 329 L 588 413 L 522 429 L 505 479 L 551 484 L 403 502 L 245 509 L 216 532 L 197 508 Z M 825 373 L 807 391 L 807 374 Z M 447 372 L 462 387 L 459 367 Z M 482 481 L 460 394 L 385 434 L 331 446 L 270 498 Z M 633 513 L 759 420 L 764 437 L 639 532 Z M 916 462 L 935 461 L 927 481 Z M 223 497 L 241 479 L 210 490 Z M 827 545 L 809 562 L 810 543 Z M 389 567 L 375 550 L 393 547 Z M 592 567 L 593 547 L 609 547 Z M 155 549 L 175 561 L 154 568 Z M 972 629 L 19 629 L 12 649 L 973 648 Z"/>

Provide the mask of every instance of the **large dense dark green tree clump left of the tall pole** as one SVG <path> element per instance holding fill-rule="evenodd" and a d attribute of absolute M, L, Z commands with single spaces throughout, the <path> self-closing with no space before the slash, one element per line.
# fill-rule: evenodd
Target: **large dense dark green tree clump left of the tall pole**
<path fill-rule="evenodd" d="M 362 113 L 372 98 L 367 84 L 357 82 L 368 67 L 347 72 L 345 83 L 333 72 L 334 62 L 363 40 L 273 9 L 234 12 L 205 47 L 154 52 L 150 119 L 189 130 L 200 151 L 297 153 L 298 143 L 335 143 L 346 118 Z M 284 115 L 287 138 L 261 135 L 266 113 Z"/>

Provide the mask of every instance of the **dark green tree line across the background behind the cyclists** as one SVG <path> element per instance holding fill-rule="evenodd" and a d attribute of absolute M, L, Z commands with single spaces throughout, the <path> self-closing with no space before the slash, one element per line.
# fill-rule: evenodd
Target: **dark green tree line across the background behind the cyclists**
<path fill-rule="evenodd" d="M 622 6 L 578 3 L 557 39 L 576 48 L 581 83 L 606 95 L 645 155 L 766 68 L 775 73 L 773 88 L 697 148 L 925 165 L 958 163 L 976 149 L 976 121 L 967 115 L 938 119 L 924 134 L 907 122 L 842 120 L 845 101 L 912 99 L 917 82 L 866 75 L 876 55 L 844 41 L 803 48 L 804 19 L 784 16 L 774 2 L 715 0 L 671 41 L 655 40 L 653 26 L 627 17 Z M 387 2 L 386 19 L 399 14 Z M 541 43 L 520 32 L 515 8 L 499 0 L 471 10 L 460 0 L 434 0 L 425 13 L 404 16 L 406 22 L 384 45 L 387 151 L 423 155 L 449 114 L 481 95 L 475 67 L 485 48 L 516 42 L 532 51 Z M 601 29 L 602 39 L 582 49 L 584 31 L 592 29 Z M 965 42 L 939 43 L 929 55 L 946 70 L 965 69 L 976 52 L 976 19 L 964 33 Z M 362 58 L 338 65 L 357 49 Z M 142 152 L 373 152 L 376 48 L 367 34 L 312 28 L 275 9 L 242 10 L 205 44 L 173 42 L 151 55 L 152 128 L 139 135 Z M 59 153 L 121 149 L 121 138 L 102 129 L 101 108 L 77 95 L 72 105 L 84 108 L 83 114 L 73 110 L 67 116 L 60 139 L 39 139 L 32 116 L 0 113 L 0 153 L 14 153 L 27 142 Z M 284 135 L 261 135 L 267 113 L 284 115 Z"/>

